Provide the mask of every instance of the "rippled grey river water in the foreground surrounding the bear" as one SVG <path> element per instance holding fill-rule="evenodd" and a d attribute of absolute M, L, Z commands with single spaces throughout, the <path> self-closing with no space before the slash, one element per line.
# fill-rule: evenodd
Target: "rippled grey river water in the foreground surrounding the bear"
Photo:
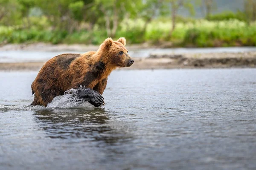
<path fill-rule="evenodd" d="M 114 71 L 104 108 L 27 107 L 0 72 L 2 170 L 255 170 L 256 69 Z"/>

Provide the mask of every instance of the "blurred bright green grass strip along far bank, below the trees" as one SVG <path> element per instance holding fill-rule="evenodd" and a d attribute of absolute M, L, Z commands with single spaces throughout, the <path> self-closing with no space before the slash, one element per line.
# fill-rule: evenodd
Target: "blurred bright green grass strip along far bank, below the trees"
<path fill-rule="evenodd" d="M 148 24 L 143 32 L 143 20 L 126 20 L 120 24 L 114 39 L 125 37 L 128 44 L 149 42 L 172 41 L 176 46 L 215 47 L 215 46 L 255 46 L 256 23 L 248 25 L 244 21 L 207 21 L 195 20 L 191 22 L 177 23 L 176 29 L 168 38 L 170 28 L 169 20 L 154 20 Z M 0 44 L 24 43 L 24 42 L 50 42 L 52 44 L 95 44 L 98 45 L 107 38 L 104 28 L 95 26 L 93 30 L 75 31 L 69 34 L 67 31 L 51 31 L 49 27 L 33 26 L 30 29 L 18 27 L 0 26 Z"/>

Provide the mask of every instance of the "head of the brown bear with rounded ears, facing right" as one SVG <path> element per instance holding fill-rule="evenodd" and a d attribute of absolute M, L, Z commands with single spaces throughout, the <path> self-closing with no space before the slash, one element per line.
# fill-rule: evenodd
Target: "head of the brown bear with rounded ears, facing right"
<path fill-rule="evenodd" d="M 134 63 L 134 60 L 129 56 L 125 45 L 126 40 L 124 37 L 116 41 L 107 38 L 100 45 L 97 52 L 105 64 L 110 64 L 113 67 L 130 67 Z"/>

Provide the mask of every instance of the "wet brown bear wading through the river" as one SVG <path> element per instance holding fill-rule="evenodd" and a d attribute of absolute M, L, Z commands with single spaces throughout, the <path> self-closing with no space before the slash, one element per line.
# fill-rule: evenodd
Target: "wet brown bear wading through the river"
<path fill-rule="evenodd" d="M 98 51 L 84 54 L 61 54 L 49 59 L 32 83 L 34 101 L 31 105 L 45 107 L 55 96 L 63 95 L 70 88 L 83 88 L 83 96 L 94 106 L 102 102 L 108 76 L 117 67 L 130 67 L 134 60 L 127 54 L 124 37 L 113 41 L 107 38 Z"/>

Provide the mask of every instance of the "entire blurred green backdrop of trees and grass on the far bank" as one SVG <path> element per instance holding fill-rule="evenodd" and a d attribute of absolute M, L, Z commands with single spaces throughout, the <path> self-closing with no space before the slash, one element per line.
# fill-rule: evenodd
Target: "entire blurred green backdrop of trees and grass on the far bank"
<path fill-rule="evenodd" d="M 256 45 L 256 0 L 0 0 L 0 45 Z"/>

